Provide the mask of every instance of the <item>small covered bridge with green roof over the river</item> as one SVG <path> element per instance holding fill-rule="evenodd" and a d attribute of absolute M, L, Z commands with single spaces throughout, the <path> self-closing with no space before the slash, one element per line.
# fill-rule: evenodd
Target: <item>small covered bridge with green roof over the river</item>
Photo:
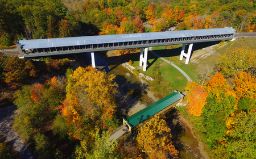
<path fill-rule="evenodd" d="M 134 131 L 135 129 L 141 127 L 141 125 L 146 123 L 147 120 L 152 118 L 154 115 L 159 115 L 175 106 L 180 101 L 183 101 L 184 96 L 185 95 L 180 91 L 175 91 L 167 97 L 160 99 L 158 102 L 155 102 L 143 110 L 129 116 L 127 119 L 123 118 L 123 125 L 128 125 L 129 131 Z"/>

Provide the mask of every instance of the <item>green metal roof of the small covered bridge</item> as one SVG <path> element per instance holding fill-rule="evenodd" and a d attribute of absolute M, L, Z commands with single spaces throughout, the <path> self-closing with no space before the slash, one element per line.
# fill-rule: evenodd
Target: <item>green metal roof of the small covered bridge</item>
<path fill-rule="evenodd" d="M 179 92 L 174 92 L 167 97 L 160 99 L 158 102 L 155 102 L 154 104 L 151 104 L 143 110 L 135 113 L 134 115 L 129 116 L 126 121 L 131 127 L 135 127 L 139 123 L 142 123 L 144 120 L 150 118 L 164 108 L 179 101 L 181 98 L 183 98 L 183 96 L 184 95 Z"/>

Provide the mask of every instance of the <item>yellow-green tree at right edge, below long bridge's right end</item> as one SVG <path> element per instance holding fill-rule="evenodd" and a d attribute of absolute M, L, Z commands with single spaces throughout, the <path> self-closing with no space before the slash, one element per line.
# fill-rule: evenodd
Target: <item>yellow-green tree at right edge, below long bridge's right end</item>
<path fill-rule="evenodd" d="M 256 65 L 256 50 L 236 48 L 230 54 L 224 54 L 218 61 L 220 72 L 224 77 L 236 76 L 238 72 L 248 71 Z"/>

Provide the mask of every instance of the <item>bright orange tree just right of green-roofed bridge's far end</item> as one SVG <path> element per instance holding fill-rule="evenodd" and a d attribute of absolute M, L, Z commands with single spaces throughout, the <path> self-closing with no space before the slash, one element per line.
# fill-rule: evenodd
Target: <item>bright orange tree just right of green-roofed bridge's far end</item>
<path fill-rule="evenodd" d="M 207 92 L 202 89 L 201 86 L 193 89 L 189 101 L 188 101 L 188 112 L 193 116 L 200 116 L 203 113 L 204 105 L 207 103 Z"/>

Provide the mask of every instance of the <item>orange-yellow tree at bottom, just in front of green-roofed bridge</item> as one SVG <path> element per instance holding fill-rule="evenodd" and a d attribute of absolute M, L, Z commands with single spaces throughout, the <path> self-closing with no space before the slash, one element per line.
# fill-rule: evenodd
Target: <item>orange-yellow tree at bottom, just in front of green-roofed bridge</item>
<path fill-rule="evenodd" d="M 149 155 L 154 152 L 163 151 L 166 156 L 178 158 L 178 151 L 172 145 L 171 129 L 167 126 L 166 121 L 159 116 L 151 118 L 144 127 L 139 128 L 137 141 L 142 152 Z"/>

